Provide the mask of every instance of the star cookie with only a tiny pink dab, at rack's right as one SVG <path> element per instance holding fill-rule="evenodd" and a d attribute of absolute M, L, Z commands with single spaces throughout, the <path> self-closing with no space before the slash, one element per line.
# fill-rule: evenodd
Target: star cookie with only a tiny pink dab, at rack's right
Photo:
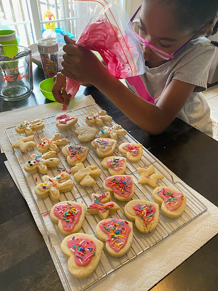
<path fill-rule="evenodd" d="M 148 184 L 152 187 L 157 186 L 157 180 L 161 180 L 164 176 L 161 173 L 154 174 L 154 166 L 151 165 L 149 168 L 137 168 L 137 172 L 140 174 L 140 178 L 138 180 L 139 184 Z"/>

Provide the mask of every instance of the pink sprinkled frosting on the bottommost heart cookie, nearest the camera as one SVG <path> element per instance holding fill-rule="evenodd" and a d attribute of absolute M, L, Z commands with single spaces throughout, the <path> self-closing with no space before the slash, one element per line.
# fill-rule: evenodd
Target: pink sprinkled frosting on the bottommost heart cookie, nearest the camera
<path fill-rule="evenodd" d="M 74 260 L 77 266 L 87 266 L 93 258 L 96 250 L 95 243 L 84 237 L 74 237 L 67 242 L 69 249 L 74 253 Z"/>

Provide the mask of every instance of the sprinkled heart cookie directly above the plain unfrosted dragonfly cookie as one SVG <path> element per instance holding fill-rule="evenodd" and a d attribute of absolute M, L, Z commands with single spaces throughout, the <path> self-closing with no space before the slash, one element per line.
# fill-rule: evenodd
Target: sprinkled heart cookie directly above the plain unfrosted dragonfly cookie
<path fill-rule="evenodd" d="M 62 154 L 67 158 L 67 162 L 71 166 L 85 162 L 88 153 L 89 148 L 87 146 L 69 145 L 64 146 L 62 149 Z"/>

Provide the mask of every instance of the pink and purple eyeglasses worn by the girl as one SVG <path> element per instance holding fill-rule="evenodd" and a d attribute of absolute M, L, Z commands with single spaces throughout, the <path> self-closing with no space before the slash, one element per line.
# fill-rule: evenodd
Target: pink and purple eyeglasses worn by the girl
<path fill-rule="evenodd" d="M 134 13 L 134 15 L 132 16 L 132 18 L 130 19 L 130 22 L 132 22 L 135 18 L 135 16 L 137 15 L 138 11 L 141 9 L 142 4 L 139 6 L 139 8 L 136 10 L 136 12 Z M 204 27 L 204 25 L 203 25 Z M 202 27 L 202 28 L 203 28 Z M 173 59 L 175 55 L 177 55 L 178 52 L 180 52 L 181 49 L 183 49 L 191 40 L 193 40 L 196 35 L 202 30 L 202 28 L 200 28 L 195 35 L 193 35 L 192 38 L 190 38 L 183 46 L 181 46 L 179 49 L 177 49 L 175 52 L 173 52 L 172 54 L 168 54 L 167 52 L 163 52 L 161 49 L 156 48 L 154 45 L 151 45 L 150 43 L 148 43 L 146 40 L 144 40 L 144 38 L 142 38 L 140 35 L 138 35 L 135 31 L 135 34 L 137 35 L 138 41 L 140 42 L 140 44 L 143 45 L 143 49 L 144 46 L 149 47 L 156 55 L 158 55 L 159 57 L 161 57 L 164 60 L 170 60 Z"/>

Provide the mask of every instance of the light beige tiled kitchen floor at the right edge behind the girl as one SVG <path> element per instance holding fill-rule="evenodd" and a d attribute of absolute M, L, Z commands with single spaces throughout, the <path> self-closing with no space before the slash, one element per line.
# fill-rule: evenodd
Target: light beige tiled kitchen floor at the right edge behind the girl
<path fill-rule="evenodd" d="M 218 123 L 218 84 L 202 92 L 210 106 L 210 117 Z"/>

